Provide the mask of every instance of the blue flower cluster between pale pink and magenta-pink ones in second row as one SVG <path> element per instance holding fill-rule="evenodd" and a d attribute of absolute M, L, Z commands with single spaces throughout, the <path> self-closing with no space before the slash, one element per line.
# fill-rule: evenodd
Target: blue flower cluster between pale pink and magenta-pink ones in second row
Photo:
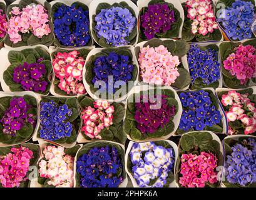
<path fill-rule="evenodd" d="M 197 44 L 192 45 L 188 51 L 188 68 L 192 84 L 199 78 L 207 85 L 220 79 L 220 63 L 214 49 L 203 51 Z"/>

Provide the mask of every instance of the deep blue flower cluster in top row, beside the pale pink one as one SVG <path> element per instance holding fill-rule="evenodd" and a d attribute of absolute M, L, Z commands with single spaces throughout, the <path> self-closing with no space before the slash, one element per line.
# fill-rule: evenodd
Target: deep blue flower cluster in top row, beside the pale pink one
<path fill-rule="evenodd" d="M 54 33 L 64 46 L 86 46 L 91 39 L 89 12 L 61 5 L 54 13 Z"/>

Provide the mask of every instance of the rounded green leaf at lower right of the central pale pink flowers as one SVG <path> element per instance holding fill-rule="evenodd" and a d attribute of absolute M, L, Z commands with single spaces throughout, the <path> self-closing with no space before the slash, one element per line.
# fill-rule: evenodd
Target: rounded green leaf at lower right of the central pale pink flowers
<path fill-rule="evenodd" d="M 180 73 L 180 76 L 178 76 L 172 86 L 178 89 L 186 88 L 191 83 L 190 73 L 184 68 L 178 68 L 178 73 Z"/>

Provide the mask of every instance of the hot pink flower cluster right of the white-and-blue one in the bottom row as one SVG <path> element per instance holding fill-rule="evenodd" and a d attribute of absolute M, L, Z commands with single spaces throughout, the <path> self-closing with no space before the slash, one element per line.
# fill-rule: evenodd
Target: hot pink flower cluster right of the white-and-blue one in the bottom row
<path fill-rule="evenodd" d="M 212 153 L 182 154 L 179 183 L 183 187 L 205 187 L 206 183 L 217 183 L 217 158 Z"/>

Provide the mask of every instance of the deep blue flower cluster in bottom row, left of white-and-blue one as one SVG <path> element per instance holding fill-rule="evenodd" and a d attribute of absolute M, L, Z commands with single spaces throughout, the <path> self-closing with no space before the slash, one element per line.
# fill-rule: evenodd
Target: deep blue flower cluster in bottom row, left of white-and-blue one
<path fill-rule="evenodd" d="M 81 187 L 118 187 L 123 182 L 123 165 L 115 147 L 93 148 L 76 161 Z"/>

